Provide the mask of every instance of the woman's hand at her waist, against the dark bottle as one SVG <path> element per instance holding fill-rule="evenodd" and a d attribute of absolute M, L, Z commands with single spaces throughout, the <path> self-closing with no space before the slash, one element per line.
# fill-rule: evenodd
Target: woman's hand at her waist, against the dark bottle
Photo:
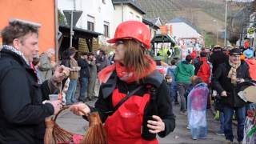
<path fill-rule="evenodd" d="M 150 133 L 157 134 L 166 129 L 165 123 L 157 115 L 152 116 L 155 120 L 147 121 L 147 127 L 150 129 Z"/>

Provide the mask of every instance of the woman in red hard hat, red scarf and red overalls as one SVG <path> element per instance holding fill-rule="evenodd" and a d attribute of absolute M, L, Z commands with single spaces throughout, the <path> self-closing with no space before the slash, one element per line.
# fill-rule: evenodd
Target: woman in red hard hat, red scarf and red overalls
<path fill-rule="evenodd" d="M 98 74 L 102 82 L 95 107 L 79 103 L 74 114 L 95 110 L 105 122 L 108 143 L 158 143 L 175 127 L 170 92 L 146 49 L 150 30 L 142 22 L 122 22 L 114 38 L 115 63 Z M 86 117 L 86 115 L 85 115 Z"/>

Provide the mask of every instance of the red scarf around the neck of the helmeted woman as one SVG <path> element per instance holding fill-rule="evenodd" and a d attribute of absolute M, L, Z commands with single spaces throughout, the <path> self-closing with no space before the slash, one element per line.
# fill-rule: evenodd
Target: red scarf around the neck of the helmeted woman
<path fill-rule="evenodd" d="M 115 62 L 113 65 L 106 66 L 106 68 L 101 70 L 98 73 L 98 79 L 101 82 L 106 83 L 106 81 L 110 78 L 110 75 L 113 73 L 114 70 L 116 70 L 118 74 L 118 78 L 128 83 L 135 82 L 141 78 L 145 78 L 156 69 L 156 64 L 154 60 L 147 56 L 146 56 L 146 59 L 150 63 L 150 69 L 145 70 L 145 72 L 142 75 L 135 74 L 133 69 L 131 69 L 130 72 L 128 72 L 125 66 L 122 66 L 119 62 Z"/>

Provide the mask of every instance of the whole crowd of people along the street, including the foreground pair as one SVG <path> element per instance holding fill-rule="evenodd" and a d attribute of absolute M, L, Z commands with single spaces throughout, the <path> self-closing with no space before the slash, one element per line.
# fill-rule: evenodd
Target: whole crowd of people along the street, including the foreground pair
<path fill-rule="evenodd" d="M 256 80 L 253 50 L 233 48 L 225 53 L 216 45 L 210 52 L 202 49 L 184 59 L 174 57 L 169 65 L 148 53 L 147 26 L 127 21 L 108 40 L 114 44 L 114 54 L 104 50 L 78 54 L 70 47 L 58 65 L 52 59 L 53 49 L 38 56 L 38 28 L 35 23 L 14 20 L 1 33 L 0 143 L 43 143 L 44 119 L 63 105 L 49 100 L 49 94 L 62 89 L 66 89 L 65 104 L 74 114 L 88 119 L 91 112 L 99 113 L 109 143 L 158 143 L 156 134 L 165 137 L 175 128 L 173 104 L 187 115 L 192 138 L 206 138 L 206 109 L 216 91 L 218 134 L 234 141 L 235 114 L 238 142 L 242 142 L 246 110 L 254 105 L 240 98 L 238 87 Z M 87 106 L 85 102 L 95 96 L 95 106 Z"/>

